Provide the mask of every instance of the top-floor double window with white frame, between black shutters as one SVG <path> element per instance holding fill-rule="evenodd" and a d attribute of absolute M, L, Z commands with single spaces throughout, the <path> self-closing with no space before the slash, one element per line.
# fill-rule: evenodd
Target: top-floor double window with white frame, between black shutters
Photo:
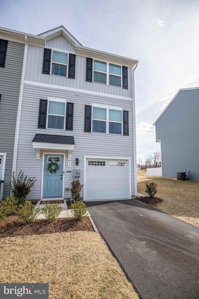
<path fill-rule="evenodd" d="M 93 59 L 93 82 L 122 86 L 122 66 Z"/>

